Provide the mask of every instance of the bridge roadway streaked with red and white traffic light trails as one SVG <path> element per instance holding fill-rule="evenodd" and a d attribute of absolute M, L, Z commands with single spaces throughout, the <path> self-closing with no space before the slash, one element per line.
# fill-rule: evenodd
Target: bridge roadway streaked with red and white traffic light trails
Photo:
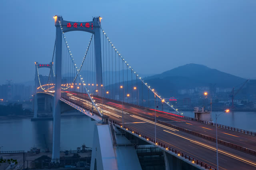
<path fill-rule="evenodd" d="M 88 100 L 88 96 L 83 93 L 66 92 L 62 93 L 62 96 L 76 103 L 79 106 L 92 107 L 91 101 Z M 102 98 L 94 96 L 93 99 L 100 111 L 102 111 Z M 154 122 L 149 121 L 132 115 L 128 112 L 144 115 L 150 118 L 154 118 L 154 111 L 148 111 L 147 109 L 141 109 L 140 107 L 135 107 L 131 105 L 124 105 L 124 123 L 126 126 L 141 132 L 151 138 L 154 138 Z M 94 109 L 96 111 L 96 109 Z M 103 113 L 108 115 L 111 119 L 115 121 L 122 122 L 122 104 L 113 103 L 108 99 L 103 100 Z M 176 125 L 178 127 L 187 128 L 208 136 L 215 137 L 215 127 L 211 125 L 206 125 L 196 121 L 189 121 L 181 117 L 174 115 L 165 115 L 163 113 L 156 113 L 157 120 Z M 209 164 L 210 166 L 216 167 L 216 144 L 203 138 L 190 135 L 188 133 L 166 127 L 157 123 L 156 125 L 156 136 L 157 140 L 172 147 L 180 150 L 181 152 L 188 154 L 198 160 Z M 247 134 L 242 134 L 232 130 L 227 130 L 223 128 L 218 128 L 218 138 L 238 144 L 240 146 L 255 149 L 255 136 L 250 136 Z M 256 157 L 228 148 L 226 146 L 218 145 L 219 153 L 219 168 L 220 169 L 256 169 Z"/>

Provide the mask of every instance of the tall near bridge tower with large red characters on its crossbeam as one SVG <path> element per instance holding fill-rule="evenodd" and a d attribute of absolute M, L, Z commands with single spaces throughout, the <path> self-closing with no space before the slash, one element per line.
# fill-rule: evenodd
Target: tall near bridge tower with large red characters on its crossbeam
<path fill-rule="evenodd" d="M 53 146 L 52 162 L 58 162 L 60 158 L 60 98 L 62 78 L 62 32 L 84 31 L 94 34 L 94 53 L 96 68 L 96 83 L 102 85 L 102 59 L 100 41 L 100 17 L 94 17 L 90 22 L 71 22 L 63 20 L 62 16 L 54 16 L 56 27 L 56 57 L 55 57 L 55 93 L 54 93 L 54 124 L 53 124 Z M 80 24 L 83 26 L 81 27 Z M 61 27 L 61 26 L 62 27 Z M 87 25 L 87 27 L 86 27 Z M 89 26 L 89 27 L 88 27 Z M 100 89 L 101 90 L 101 89 Z M 99 90 L 99 91 L 100 91 Z M 101 92 L 99 92 L 101 94 Z"/>

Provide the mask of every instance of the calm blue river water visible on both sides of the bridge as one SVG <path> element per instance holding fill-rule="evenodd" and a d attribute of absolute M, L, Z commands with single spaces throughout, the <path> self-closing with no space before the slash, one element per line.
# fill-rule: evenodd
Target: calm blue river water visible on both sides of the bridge
<path fill-rule="evenodd" d="M 212 112 L 212 120 L 215 114 Z M 183 112 L 185 116 L 193 117 L 193 112 Z M 92 147 L 93 131 L 96 121 L 87 116 L 69 116 L 61 118 L 60 149 L 76 150 L 76 147 L 86 144 Z M 242 128 L 256 132 L 255 112 L 223 113 L 218 118 L 219 124 Z M 0 120 L 1 150 L 30 150 L 35 146 L 44 150 L 46 146 L 52 149 L 53 121 L 30 121 L 30 118 Z"/>

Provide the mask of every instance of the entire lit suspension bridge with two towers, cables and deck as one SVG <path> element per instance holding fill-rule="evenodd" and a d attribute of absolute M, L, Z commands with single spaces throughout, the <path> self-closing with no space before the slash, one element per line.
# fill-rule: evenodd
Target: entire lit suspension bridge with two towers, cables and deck
<path fill-rule="evenodd" d="M 71 22 L 63 20 L 62 16 L 54 16 L 56 39 L 52 60 L 48 64 L 35 62 L 36 93 L 34 118 L 37 117 L 38 95 L 52 96 L 53 99 L 53 148 L 52 160 L 60 158 L 60 115 L 62 106 L 68 105 L 92 119 L 107 124 L 107 129 L 97 127 L 100 150 L 104 150 L 100 141 L 108 146 L 118 144 L 119 133 L 126 132 L 131 138 L 139 139 L 160 148 L 165 157 L 166 169 L 255 169 L 256 146 L 255 132 L 226 127 L 212 122 L 196 121 L 185 117 L 174 108 L 157 89 L 151 87 L 140 77 L 101 27 L 100 17 L 94 17 L 88 22 Z M 91 34 L 86 46 L 82 63 L 74 60 L 65 33 L 84 31 Z M 49 58 L 50 60 L 50 58 Z M 38 69 L 50 69 L 46 83 L 40 81 Z M 166 105 L 172 113 L 157 109 L 158 105 Z M 109 125 L 110 124 L 110 125 Z M 99 126 L 99 125 L 97 125 Z M 216 136 L 214 128 L 218 127 L 219 166 L 216 165 Z M 101 132 L 110 132 L 108 137 L 101 138 Z M 119 133 L 118 133 L 119 132 Z M 95 136 L 94 133 L 94 136 Z M 102 134 L 101 134 L 102 135 Z M 95 137 L 94 137 L 95 140 Z M 120 141 L 120 140 L 119 140 Z M 121 142 L 122 143 L 122 142 Z M 130 142 L 132 144 L 132 142 Z M 126 143 L 129 145 L 129 142 Z M 117 151 L 115 151 L 117 152 Z M 124 151 L 122 151 L 124 152 Z M 117 152 L 118 153 L 118 152 Z M 108 150 L 108 156 L 115 159 L 108 161 L 101 158 L 101 166 L 120 168 L 126 164 L 134 169 L 138 160 L 126 157 L 122 163 L 118 154 Z M 106 155 L 102 155 L 106 156 Z M 92 165 L 96 163 L 96 154 L 92 154 Z M 122 156 L 121 156 L 122 157 Z M 132 157 L 132 153 L 130 153 Z M 97 158 L 98 159 L 98 158 Z M 98 160 L 97 160 L 98 161 Z M 131 164 L 130 166 L 128 166 Z M 137 166 L 136 166 L 137 165 Z M 120 168 L 122 169 L 122 168 Z"/>

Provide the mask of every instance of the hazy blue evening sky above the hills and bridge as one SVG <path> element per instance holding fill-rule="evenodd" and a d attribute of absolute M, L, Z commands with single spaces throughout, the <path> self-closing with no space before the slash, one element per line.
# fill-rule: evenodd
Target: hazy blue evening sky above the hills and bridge
<path fill-rule="evenodd" d="M 80 22 L 101 16 L 110 40 L 142 74 L 198 63 L 256 78 L 255 9 L 256 0 L 1 0 L 0 83 L 33 80 L 34 61 L 51 61 L 55 14 Z M 90 34 L 66 37 L 79 63 Z"/>

